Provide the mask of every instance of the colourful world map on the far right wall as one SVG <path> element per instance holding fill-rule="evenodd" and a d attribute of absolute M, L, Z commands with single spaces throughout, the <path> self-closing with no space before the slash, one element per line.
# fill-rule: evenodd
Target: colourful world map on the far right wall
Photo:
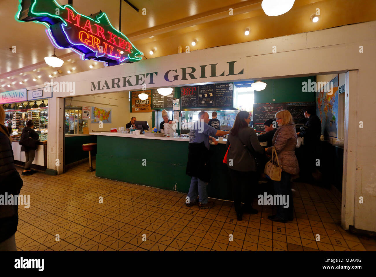
<path fill-rule="evenodd" d="M 321 120 L 321 134 L 338 136 L 338 75 L 317 92 L 317 115 Z"/>

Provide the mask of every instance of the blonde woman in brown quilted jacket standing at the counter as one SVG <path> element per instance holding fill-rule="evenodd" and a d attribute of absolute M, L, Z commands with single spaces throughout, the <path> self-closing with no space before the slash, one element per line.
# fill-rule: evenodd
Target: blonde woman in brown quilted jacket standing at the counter
<path fill-rule="evenodd" d="M 294 205 L 293 194 L 291 193 L 291 175 L 299 173 L 299 164 L 295 156 L 297 135 L 293 117 L 288 110 L 281 110 L 276 113 L 278 129 L 272 140 L 272 147 L 266 148 L 268 155 L 272 154 L 273 148 L 277 152 L 279 164 L 282 165 L 281 181 L 274 181 L 274 192 L 282 195 L 286 205 L 277 205 L 277 214 L 268 216 L 269 219 L 279 222 L 293 220 Z M 276 160 L 274 161 L 277 164 Z"/>

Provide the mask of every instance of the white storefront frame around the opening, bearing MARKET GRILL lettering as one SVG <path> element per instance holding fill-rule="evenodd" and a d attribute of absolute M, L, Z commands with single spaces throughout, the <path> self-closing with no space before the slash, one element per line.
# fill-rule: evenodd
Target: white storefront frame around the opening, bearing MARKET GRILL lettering
<path fill-rule="evenodd" d="M 158 72 L 158 77 L 155 78 L 154 84 L 149 84 L 148 89 L 152 89 L 155 87 L 203 82 L 286 78 L 357 70 L 356 79 L 350 78 L 349 86 L 346 85 L 346 97 L 354 100 L 348 103 L 349 117 L 346 120 L 351 119 L 351 121 L 347 127 L 348 129 L 344 130 L 345 133 L 349 133 L 348 130 L 351 130 L 351 136 L 345 139 L 344 151 L 351 153 L 350 156 L 355 159 L 346 168 L 346 173 L 351 173 L 356 178 L 352 184 L 355 186 L 355 190 L 352 188 L 350 192 L 346 192 L 344 188 L 346 193 L 354 194 L 352 199 L 355 199 L 355 204 L 345 204 L 343 214 L 351 215 L 355 210 L 355 216 L 353 221 L 349 220 L 349 216 L 346 219 L 343 217 L 342 225 L 348 228 L 349 223 L 352 224 L 353 222 L 356 228 L 376 231 L 374 216 L 374 211 L 376 210 L 375 29 L 376 21 L 370 21 L 315 32 L 152 58 L 132 64 L 70 74 L 55 78 L 54 81 L 76 81 L 76 94 L 89 95 L 98 94 L 99 92 L 124 91 L 124 87 L 116 87 L 115 89 L 105 88 L 91 92 L 91 82 L 99 80 L 102 82 L 105 80 L 111 81 L 111 78 L 122 78 L 148 72 Z M 276 46 L 277 53 L 272 53 L 273 46 Z M 359 47 L 362 47 L 363 53 L 359 52 Z M 235 73 L 243 68 L 243 74 L 227 76 L 227 62 L 229 61 L 237 61 Z M 214 63 L 218 63 L 217 74 L 220 74 L 223 70 L 226 71 L 224 76 L 194 80 L 189 78 L 188 80 L 181 80 L 179 77 L 178 80 L 173 82 L 168 82 L 164 79 L 164 73 L 169 69 L 177 69 L 181 76 L 180 69 L 183 67 L 195 67 L 197 73 L 200 72 L 200 65 Z M 208 75 L 207 73 L 206 76 Z M 351 75 L 347 73 L 347 76 L 353 75 L 355 73 Z M 126 87 L 126 90 L 137 89 L 142 89 L 142 84 Z M 57 96 L 69 97 L 69 93 L 54 93 L 54 97 Z M 52 101 L 52 104 L 55 104 L 55 108 L 59 109 L 58 102 Z M 363 122 L 364 129 L 359 128 L 359 121 Z M 54 133 L 49 132 L 49 135 L 53 136 Z M 56 142 L 56 145 L 50 145 L 50 142 Z M 49 138 L 49 149 L 50 147 L 58 149 L 62 144 L 62 139 L 50 140 Z M 59 155 L 62 154 L 57 151 L 49 152 L 48 168 L 56 168 L 55 159 L 62 159 L 62 156 Z M 348 160 L 344 162 L 347 165 Z M 364 204 L 359 203 L 359 197 L 363 197 Z"/>

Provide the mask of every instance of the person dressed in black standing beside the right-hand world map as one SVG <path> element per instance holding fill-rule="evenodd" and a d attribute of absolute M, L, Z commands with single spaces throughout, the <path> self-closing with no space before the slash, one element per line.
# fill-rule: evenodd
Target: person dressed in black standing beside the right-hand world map
<path fill-rule="evenodd" d="M 306 108 L 303 112 L 308 120 L 304 126 L 300 127 L 301 131 L 296 133 L 296 135 L 304 138 L 304 144 L 302 145 L 304 160 L 300 163 L 299 178 L 293 181 L 312 184 L 314 182 L 312 172 L 315 171 L 318 141 L 320 141 L 321 136 L 321 120 L 315 115 L 313 108 Z"/>

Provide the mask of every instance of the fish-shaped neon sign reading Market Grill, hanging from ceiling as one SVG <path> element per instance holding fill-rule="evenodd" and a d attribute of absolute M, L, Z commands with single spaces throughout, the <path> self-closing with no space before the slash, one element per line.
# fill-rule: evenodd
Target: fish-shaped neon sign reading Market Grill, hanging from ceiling
<path fill-rule="evenodd" d="M 102 11 L 88 17 L 56 0 L 20 0 L 16 17 L 20 21 L 43 23 L 49 28 L 46 32 L 53 43 L 81 52 L 78 54 L 83 60 L 94 59 L 112 66 L 139 61 L 143 56 L 124 34 L 112 27 Z"/>

